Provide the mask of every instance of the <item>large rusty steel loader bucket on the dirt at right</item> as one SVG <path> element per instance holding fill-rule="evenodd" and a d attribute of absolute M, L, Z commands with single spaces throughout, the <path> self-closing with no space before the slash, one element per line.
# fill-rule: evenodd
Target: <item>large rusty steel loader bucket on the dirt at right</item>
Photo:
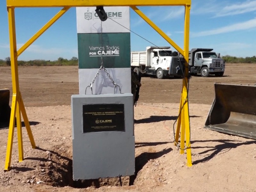
<path fill-rule="evenodd" d="M 215 83 L 205 128 L 256 139 L 256 86 Z"/>

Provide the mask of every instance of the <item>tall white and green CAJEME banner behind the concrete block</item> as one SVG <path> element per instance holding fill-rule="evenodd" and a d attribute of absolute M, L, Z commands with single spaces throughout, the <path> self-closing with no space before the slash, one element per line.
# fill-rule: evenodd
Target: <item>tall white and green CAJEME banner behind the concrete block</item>
<path fill-rule="evenodd" d="M 130 7 L 104 7 L 106 21 L 99 19 L 95 9 L 76 7 L 79 93 L 84 94 L 102 62 L 121 92 L 131 93 Z M 113 93 L 113 83 L 102 71 L 93 94 L 105 93 Z"/>

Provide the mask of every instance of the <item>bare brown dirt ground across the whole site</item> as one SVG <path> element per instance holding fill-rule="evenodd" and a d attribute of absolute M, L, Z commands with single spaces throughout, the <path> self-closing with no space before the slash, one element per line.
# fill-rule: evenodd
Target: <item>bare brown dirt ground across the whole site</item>
<path fill-rule="evenodd" d="M 18 162 L 15 130 L 12 170 L 4 172 L 8 129 L 0 130 L 0 191 L 256 191 L 256 141 L 214 132 L 204 123 L 214 82 L 256 84 L 255 64 L 227 64 L 223 77 L 192 76 L 189 86 L 192 167 L 173 144 L 182 79 L 142 77 L 134 108 L 135 176 L 73 182 L 70 96 L 78 68 L 19 67 L 20 91 L 37 149 L 23 129 Z M 0 67 L 0 88 L 12 89 L 10 67 Z"/>

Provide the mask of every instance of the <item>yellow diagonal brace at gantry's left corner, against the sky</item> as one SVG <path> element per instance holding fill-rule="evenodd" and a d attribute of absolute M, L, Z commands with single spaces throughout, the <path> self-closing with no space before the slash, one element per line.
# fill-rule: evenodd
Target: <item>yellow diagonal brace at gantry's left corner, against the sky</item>
<path fill-rule="evenodd" d="M 31 45 L 34 41 L 36 41 L 36 39 L 38 37 L 40 37 L 44 31 L 46 31 L 49 27 L 52 26 L 52 24 L 57 21 L 65 12 L 68 11 L 70 7 L 66 6 L 66 7 L 63 7 L 62 10 L 60 10 L 51 20 L 49 20 L 45 25 L 44 27 L 42 27 L 39 31 L 37 31 L 37 33 L 32 36 L 22 47 L 20 47 L 20 49 L 18 50 L 17 52 L 17 57 L 22 53 L 24 52 L 29 45 Z"/>

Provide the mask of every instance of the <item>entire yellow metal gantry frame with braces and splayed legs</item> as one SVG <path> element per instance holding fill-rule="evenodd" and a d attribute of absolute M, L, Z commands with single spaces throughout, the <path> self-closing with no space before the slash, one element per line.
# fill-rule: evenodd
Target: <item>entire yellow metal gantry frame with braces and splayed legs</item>
<path fill-rule="evenodd" d="M 14 134 L 15 117 L 17 123 L 19 161 L 23 161 L 23 143 L 21 130 L 21 114 L 28 132 L 29 140 L 32 148 L 36 148 L 36 144 L 31 132 L 28 117 L 24 107 L 24 103 L 20 93 L 19 75 L 18 75 L 18 56 L 24 52 L 29 45 L 41 36 L 52 24 L 58 20 L 70 7 L 90 7 L 90 6 L 129 6 L 140 17 L 145 20 L 152 28 L 154 28 L 168 43 L 170 43 L 185 58 L 185 77 L 182 83 L 182 91 L 180 98 L 179 118 L 176 129 L 175 145 L 178 143 L 180 134 L 180 153 L 184 153 L 185 135 L 186 135 L 186 151 L 187 165 L 192 166 L 191 148 L 190 148 L 190 125 L 188 112 L 188 44 L 189 44 L 189 14 L 191 0 L 6 0 L 9 22 L 10 36 L 10 53 L 11 53 L 11 70 L 12 70 L 12 109 L 9 124 L 9 134 L 6 149 L 6 159 L 4 170 L 8 171 L 11 167 L 12 143 Z M 160 28 L 158 28 L 146 15 L 144 15 L 137 6 L 184 6 L 184 49 L 181 49 L 170 37 L 168 37 Z M 19 50 L 16 44 L 15 15 L 16 7 L 63 7 L 50 21 L 48 21 L 34 36 L 32 36 Z"/>

